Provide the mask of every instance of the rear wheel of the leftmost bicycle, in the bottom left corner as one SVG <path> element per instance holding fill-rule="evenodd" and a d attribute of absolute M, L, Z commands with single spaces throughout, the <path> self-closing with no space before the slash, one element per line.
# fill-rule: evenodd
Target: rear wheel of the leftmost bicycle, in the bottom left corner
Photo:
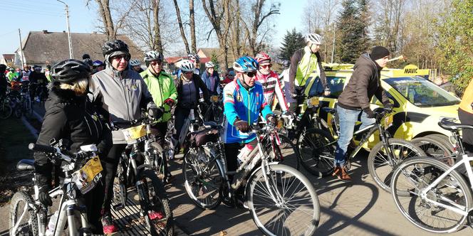
<path fill-rule="evenodd" d="M 9 232 L 10 235 L 38 235 L 38 217 L 32 208 L 28 208 L 28 212 L 23 219 L 19 219 L 25 210 L 25 206 L 33 204 L 33 198 L 24 191 L 16 192 L 10 201 L 10 220 Z M 14 227 L 19 222 L 19 227 L 16 234 L 12 232 Z"/>

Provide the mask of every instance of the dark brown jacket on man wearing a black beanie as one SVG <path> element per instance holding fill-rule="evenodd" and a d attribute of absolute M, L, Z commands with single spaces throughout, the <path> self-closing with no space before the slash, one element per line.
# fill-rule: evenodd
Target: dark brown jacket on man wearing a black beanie
<path fill-rule="evenodd" d="M 356 60 L 353 74 L 338 97 L 338 105 L 345 109 L 369 109 L 370 101 L 375 95 L 383 104 L 389 103 L 381 87 L 381 70 L 370 55 L 365 53 Z"/>

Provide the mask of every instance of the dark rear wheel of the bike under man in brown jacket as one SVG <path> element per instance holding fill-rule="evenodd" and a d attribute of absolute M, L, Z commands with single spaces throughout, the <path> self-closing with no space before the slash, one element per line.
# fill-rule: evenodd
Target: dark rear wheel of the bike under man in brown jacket
<path fill-rule="evenodd" d="M 314 176 L 324 177 L 333 172 L 336 143 L 331 134 L 321 129 L 307 129 L 297 141 L 304 168 Z"/>

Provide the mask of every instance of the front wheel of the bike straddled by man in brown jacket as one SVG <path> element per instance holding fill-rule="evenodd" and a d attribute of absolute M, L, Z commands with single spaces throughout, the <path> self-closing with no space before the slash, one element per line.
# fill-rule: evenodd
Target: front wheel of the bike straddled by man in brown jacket
<path fill-rule="evenodd" d="M 393 163 L 391 163 L 388 157 L 388 152 L 385 150 L 383 142 L 380 141 L 370 151 L 368 170 L 378 186 L 389 192 L 391 191 L 390 183 L 393 168 L 395 168 L 397 163 L 413 156 L 425 156 L 425 153 L 410 141 L 389 139 L 388 142 L 390 149 L 393 151 Z"/>

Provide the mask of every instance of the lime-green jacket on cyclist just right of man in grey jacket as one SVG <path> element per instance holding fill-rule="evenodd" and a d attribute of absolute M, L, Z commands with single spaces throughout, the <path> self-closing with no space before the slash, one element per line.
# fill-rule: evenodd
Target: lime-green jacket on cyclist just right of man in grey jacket
<path fill-rule="evenodd" d="M 165 114 L 163 114 L 161 119 L 158 119 L 157 122 L 169 121 L 172 117 L 171 107 L 164 104 L 165 100 L 170 98 L 174 100 L 174 104 L 177 103 L 177 90 L 171 75 L 161 71 L 159 77 L 156 77 L 152 75 L 150 70 L 145 70 L 140 73 L 140 75 L 152 95 L 152 100 L 158 107 L 164 107 L 165 109 Z"/>

